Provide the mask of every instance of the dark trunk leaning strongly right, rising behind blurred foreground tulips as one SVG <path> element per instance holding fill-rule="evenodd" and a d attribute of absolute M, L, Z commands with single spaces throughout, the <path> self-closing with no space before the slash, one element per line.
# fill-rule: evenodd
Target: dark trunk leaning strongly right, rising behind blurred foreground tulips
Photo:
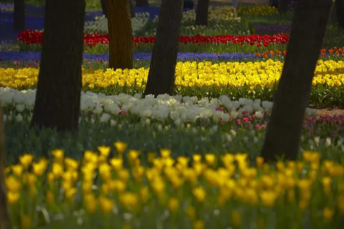
<path fill-rule="evenodd" d="M 300 0 L 297 3 L 288 52 L 262 150 L 267 162 L 283 155 L 285 160 L 297 158 L 305 110 L 331 5 L 332 0 Z"/>

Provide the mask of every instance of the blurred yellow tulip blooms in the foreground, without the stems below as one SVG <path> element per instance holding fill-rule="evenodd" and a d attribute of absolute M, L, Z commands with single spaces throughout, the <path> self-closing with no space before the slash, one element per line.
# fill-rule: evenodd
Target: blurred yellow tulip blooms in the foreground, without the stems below
<path fill-rule="evenodd" d="M 53 150 L 51 167 L 46 159 L 33 162 L 33 155 L 21 156 L 19 164 L 5 169 L 10 207 L 38 201 L 45 202 L 41 204 L 49 210 L 58 204 L 73 203 L 80 192 L 90 214 L 97 209 L 110 213 L 115 203 L 138 213 L 142 211 L 140 206 L 152 206 L 150 202 L 159 200 L 172 213 L 180 211 L 180 206 L 186 207 L 190 219 L 197 220 L 198 208 L 194 205 L 208 206 L 213 198 L 218 209 L 226 208 L 232 200 L 264 209 L 278 207 L 283 201 L 283 208 L 296 206 L 295 214 L 312 208 L 312 203 L 317 203 L 313 198 L 322 198 L 325 207 L 319 216 L 323 220 L 331 220 L 334 212 L 344 214 L 344 167 L 332 161 L 320 162 L 317 152 L 305 151 L 303 160 L 278 162 L 274 169 L 260 157 L 256 158 L 256 166 L 250 167 L 247 154 L 225 154 L 220 158 L 213 154 L 193 155 L 190 165 L 189 158 L 175 160 L 169 149 L 161 149 L 160 157 L 154 152 L 145 156 L 150 164 L 146 167 L 141 164 L 141 152 L 130 149 L 126 157 L 131 166 L 125 168 L 123 152 L 127 144 L 115 142 L 114 146 L 117 154 L 112 159 L 108 159 L 111 148 L 100 146 L 99 152 L 85 151 L 81 162 L 65 158 L 61 149 Z M 96 174 L 101 182 L 95 182 Z M 47 180 L 48 190 L 37 188 L 42 179 Z M 78 181 L 81 188 L 75 186 Z M 95 190 L 94 185 L 99 188 Z M 61 200 L 58 195 L 63 195 L 66 203 L 55 202 L 56 198 Z M 184 199 L 188 206 L 182 205 Z"/>

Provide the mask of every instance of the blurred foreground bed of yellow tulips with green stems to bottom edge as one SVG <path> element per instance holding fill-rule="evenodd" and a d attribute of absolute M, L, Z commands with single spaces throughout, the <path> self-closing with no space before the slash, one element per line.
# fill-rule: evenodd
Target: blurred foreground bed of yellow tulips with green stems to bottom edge
<path fill-rule="evenodd" d="M 191 161 L 175 160 L 169 149 L 160 149 L 160 157 L 155 152 L 145 156 L 147 166 L 139 150 L 126 151 L 125 142 L 114 145 L 111 159 L 108 146 L 85 151 L 81 161 L 65 158 L 59 149 L 52 151 L 51 162 L 29 154 L 19 157 L 20 163 L 5 171 L 15 226 L 341 225 L 344 167 L 321 162 L 317 152 L 305 151 L 303 160 L 277 163 L 275 169 L 262 158 L 251 167 L 247 154 L 195 154 Z"/>

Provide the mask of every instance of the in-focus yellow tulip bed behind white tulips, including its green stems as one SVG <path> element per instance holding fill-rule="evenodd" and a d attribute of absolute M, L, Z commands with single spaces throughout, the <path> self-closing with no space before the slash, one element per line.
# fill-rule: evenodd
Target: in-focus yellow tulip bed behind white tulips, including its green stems
<path fill-rule="evenodd" d="M 272 100 L 277 89 L 283 63 L 266 62 L 178 62 L 175 94 L 218 98 L 226 94 L 232 99 Z M 340 106 L 344 93 L 343 61 L 318 61 L 310 103 L 316 106 Z M 38 80 L 37 68 L 0 68 L 2 87 L 34 88 Z M 149 68 L 140 69 L 83 69 L 83 90 L 106 94 L 143 93 Z M 323 96 L 326 95 L 326 96 Z"/>

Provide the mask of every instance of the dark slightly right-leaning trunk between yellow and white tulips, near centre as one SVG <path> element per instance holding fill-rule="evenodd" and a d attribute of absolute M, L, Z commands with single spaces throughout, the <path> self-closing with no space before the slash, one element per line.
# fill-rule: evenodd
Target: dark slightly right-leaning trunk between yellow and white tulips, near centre
<path fill-rule="evenodd" d="M 175 84 L 183 0 L 162 0 L 144 95 L 172 94 Z"/>

